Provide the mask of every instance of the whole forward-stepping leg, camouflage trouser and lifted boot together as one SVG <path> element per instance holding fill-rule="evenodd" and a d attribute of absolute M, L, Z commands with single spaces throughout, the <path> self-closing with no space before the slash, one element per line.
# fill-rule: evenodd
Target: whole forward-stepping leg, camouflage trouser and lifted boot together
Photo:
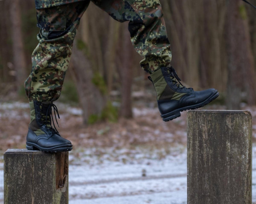
<path fill-rule="evenodd" d="M 181 111 L 202 107 L 219 96 L 215 89 L 194 91 L 179 83 L 180 78 L 170 67 L 170 43 L 158 0 L 92 1 L 114 19 L 130 21 L 133 46 L 144 57 L 140 65 L 150 73 L 164 121 L 179 117 Z"/>

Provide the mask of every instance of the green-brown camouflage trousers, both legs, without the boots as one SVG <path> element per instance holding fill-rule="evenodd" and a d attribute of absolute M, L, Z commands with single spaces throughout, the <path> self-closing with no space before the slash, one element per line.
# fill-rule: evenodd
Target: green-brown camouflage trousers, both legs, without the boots
<path fill-rule="evenodd" d="M 90 0 L 35 0 L 39 41 L 32 54 L 32 71 L 25 81 L 30 101 L 59 98 L 80 18 Z M 92 0 L 119 22 L 129 21 L 135 50 L 148 73 L 168 66 L 171 48 L 158 0 Z"/>

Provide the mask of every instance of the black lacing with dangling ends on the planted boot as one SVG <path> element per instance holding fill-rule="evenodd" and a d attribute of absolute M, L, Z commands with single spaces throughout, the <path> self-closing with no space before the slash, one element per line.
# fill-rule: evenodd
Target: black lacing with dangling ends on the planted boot
<path fill-rule="evenodd" d="M 53 108 L 53 112 L 54 112 L 54 117 L 55 117 L 55 121 L 59 127 L 58 121 L 57 121 L 57 117 L 56 117 L 56 113 L 58 118 L 60 119 L 60 115 L 57 109 L 57 106 L 54 105 L 53 103 L 51 104 L 43 104 L 41 103 L 42 106 L 42 110 L 41 110 L 41 120 L 43 121 L 44 125 L 53 133 L 57 133 L 59 134 L 57 128 L 55 127 L 55 123 L 53 120 L 53 116 L 52 116 L 52 108 Z M 52 123 L 53 123 L 53 127 L 52 127 Z"/>

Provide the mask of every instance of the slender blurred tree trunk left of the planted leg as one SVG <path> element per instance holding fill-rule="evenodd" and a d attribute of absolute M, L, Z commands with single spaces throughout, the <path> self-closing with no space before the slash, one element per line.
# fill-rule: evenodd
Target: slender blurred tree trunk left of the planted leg
<path fill-rule="evenodd" d="M 26 59 L 21 31 L 21 13 L 20 1 L 9 0 L 10 3 L 10 18 L 12 22 L 12 53 L 13 67 L 16 71 L 16 88 L 19 90 L 23 87 L 26 79 Z"/>

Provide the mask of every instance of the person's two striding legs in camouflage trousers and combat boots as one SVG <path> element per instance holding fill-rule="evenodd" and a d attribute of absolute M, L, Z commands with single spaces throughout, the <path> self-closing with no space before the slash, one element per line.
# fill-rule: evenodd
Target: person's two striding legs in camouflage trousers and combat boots
<path fill-rule="evenodd" d="M 39 41 L 32 54 L 32 70 L 25 81 L 31 122 L 27 149 L 70 151 L 72 144 L 57 131 L 52 116 L 59 117 L 52 101 L 60 97 L 80 19 L 90 0 L 35 0 Z M 135 50 L 144 58 L 140 65 L 150 73 L 161 117 L 169 121 L 180 112 L 202 107 L 219 96 L 215 89 L 194 91 L 180 83 L 170 66 L 171 48 L 158 0 L 92 0 L 119 22 L 129 21 Z M 53 123 L 53 127 L 52 127 Z"/>

